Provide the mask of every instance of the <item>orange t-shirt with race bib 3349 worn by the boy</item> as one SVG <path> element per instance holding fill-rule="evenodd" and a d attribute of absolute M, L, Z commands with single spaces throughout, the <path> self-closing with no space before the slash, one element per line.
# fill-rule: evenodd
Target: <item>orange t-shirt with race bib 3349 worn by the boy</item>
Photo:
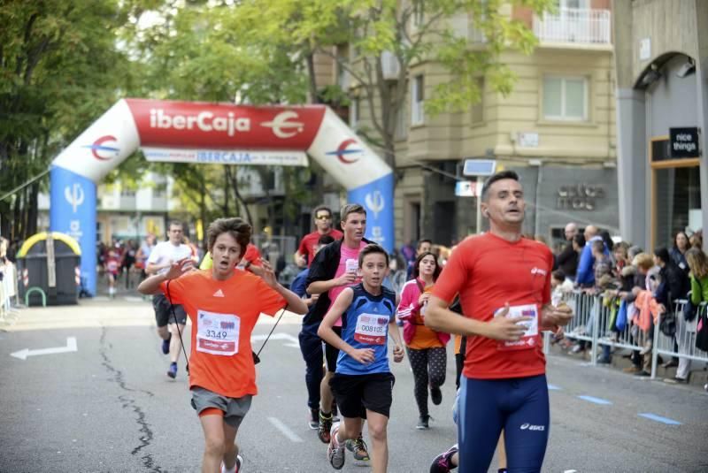
<path fill-rule="evenodd" d="M 161 288 L 165 295 L 169 288 L 168 299 L 192 321 L 189 388 L 229 398 L 257 394 L 250 334 L 261 313 L 273 316 L 286 306 L 281 294 L 241 270 L 224 281 L 212 278 L 211 270 L 193 271 Z"/>

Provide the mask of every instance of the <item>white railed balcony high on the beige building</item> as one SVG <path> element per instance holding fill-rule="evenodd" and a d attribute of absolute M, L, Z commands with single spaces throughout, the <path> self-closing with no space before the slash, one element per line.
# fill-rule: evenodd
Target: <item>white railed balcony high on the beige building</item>
<path fill-rule="evenodd" d="M 609 10 L 560 8 L 534 18 L 534 34 L 543 44 L 612 45 Z"/>

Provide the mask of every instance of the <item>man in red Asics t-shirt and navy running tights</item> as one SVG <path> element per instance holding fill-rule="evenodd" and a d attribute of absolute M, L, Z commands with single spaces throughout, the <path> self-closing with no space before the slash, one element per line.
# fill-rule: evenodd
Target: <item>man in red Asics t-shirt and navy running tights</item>
<path fill-rule="evenodd" d="M 541 471 L 549 435 L 543 330 L 573 317 L 550 304 L 550 249 L 521 237 L 524 194 L 516 172 L 482 188 L 489 233 L 458 245 L 428 301 L 425 324 L 467 336 L 460 386 L 460 470 L 486 472 L 504 430 L 509 471 Z M 459 294 L 465 317 L 448 306 Z"/>

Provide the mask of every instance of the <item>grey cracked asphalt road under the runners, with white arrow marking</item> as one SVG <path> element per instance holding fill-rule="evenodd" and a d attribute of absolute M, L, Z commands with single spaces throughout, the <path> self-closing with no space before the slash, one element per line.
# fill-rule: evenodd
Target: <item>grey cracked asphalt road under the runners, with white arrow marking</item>
<path fill-rule="evenodd" d="M 272 324 L 261 317 L 256 338 Z M 260 393 L 238 436 L 244 471 L 333 470 L 327 447 L 306 423 L 304 362 L 293 343 L 298 328 L 296 317 L 284 317 L 261 354 Z M 149 303 L 99 298 L 78 307 L 24 309 L 0 330 L 0 472 L 199 470 L 203 437 L 189 406 L 184 362 L 176 380 L 165 376 L 168 362 Z M 64 353 L 11 356 L 26 348 L 67 347 L 67 338 L 76 339 L 76 351 L 69 351 L 68 340 Z M 392 366 L 389 471 L 427 472 L 435 454 L 456 441 L 450 412 L 454 362 L 450 355 L 443 404 L 431 406 L 429 431 L 415 430 L 407 360 Z M 548 380 L 551 428 L 544 471 L 708 470 L 703 390 L 559 355 L 549 357 Z M 342 469 L 366 470 L 351 457 Z"/>

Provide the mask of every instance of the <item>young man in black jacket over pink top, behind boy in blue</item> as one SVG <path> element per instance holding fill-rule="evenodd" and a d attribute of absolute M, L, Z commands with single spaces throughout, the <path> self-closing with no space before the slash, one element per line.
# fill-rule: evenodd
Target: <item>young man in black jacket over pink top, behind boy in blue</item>
<path fill-rule="evenodd" d="M 353 286 L 358 282 L 358 254 L 361 248 L 366 247 L 371 241 L 364 238 L 366 233 L 366 209 L 358 203 L 349 203 L 342 207 L 340 213 L 342 218 L 342 240 L 336 240 L 319 250 L 312 260 L 310 274 L 307 277 L 307 292 L 309 294 L 319 294 L 319 299 L 312 306 L 304 317 L 303 330 L 307 327 L 308 334 L 314 330 L 315 336 L 319 324 L 327 314 L 327 310 L 335 301 L 345 287 Z M 339 327 L 335 326 L 335 332 L 339 330 L 341 334 L 341 322 Z M 302 342 L 302 339 L 301 339 Z M 302 344 L 302 343 L 301 343 Z M 312 345 L 312 350 L 316 347 Z M 321 348 L 320 348 L 321 350 Z M 328 344 L 325 344 L 325 358 L 327 361 L 327 373 L 320 384 L 320 406 L 318 437 L 323 443 L 329 443 L 330 428 L 332 427 L 332 412 L 330 407 L 334 402 L 332 391 L 329 387 L 329 379 L 335 373 L 337 356 L 339 351 Z M 319 355 L 321 363 L 321 355 Z M 306 359 L 314 360 L 315 356 L 306 356 Z M 311 362 L 309 364 L 313 364 Z M 321 367 L 321 364 L 319 365 Z M 316 366 L 308 366 L 308 370 L 317 370 Z M 357 446 L 355 458 L 364 460 L 368 457 L 366 446 L 362 439 L 354 442 Z"/>

